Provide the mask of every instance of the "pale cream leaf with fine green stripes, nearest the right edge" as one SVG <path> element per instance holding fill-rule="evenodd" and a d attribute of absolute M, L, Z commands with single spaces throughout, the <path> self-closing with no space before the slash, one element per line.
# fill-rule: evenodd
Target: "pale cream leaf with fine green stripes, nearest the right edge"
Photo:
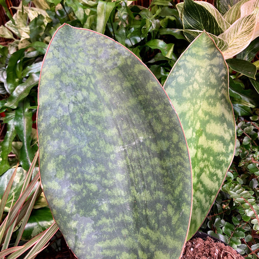
<path fill-rule="evenodd" d="M 224 58 L 232 58 L 234 55 L 242 52 L 253 40 L 258 17 L 259 8 L 245 17 L 235 21 L 220 38 L 228 42 L 229 47 L 223 52 Z"/>

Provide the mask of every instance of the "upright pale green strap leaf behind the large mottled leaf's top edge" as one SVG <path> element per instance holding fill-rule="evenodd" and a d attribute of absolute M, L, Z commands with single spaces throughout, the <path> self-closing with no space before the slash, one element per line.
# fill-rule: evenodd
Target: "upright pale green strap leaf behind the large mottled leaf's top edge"
<path fill-rule="evenodd" d="M 99 0 L 97 5 L 97 25 L 96 31 L 104 34 L 106 23 L 114 9 L 116 2 Z"/>

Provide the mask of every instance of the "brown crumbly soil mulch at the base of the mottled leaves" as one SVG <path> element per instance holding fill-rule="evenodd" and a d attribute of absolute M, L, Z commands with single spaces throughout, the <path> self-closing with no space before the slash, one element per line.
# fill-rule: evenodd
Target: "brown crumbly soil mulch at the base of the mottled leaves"
<path fill-rule="evenodd" d="M 181 259 L 244 259 L 235 249 L 207 237 L 191 239 L 186 243 Z"/>

